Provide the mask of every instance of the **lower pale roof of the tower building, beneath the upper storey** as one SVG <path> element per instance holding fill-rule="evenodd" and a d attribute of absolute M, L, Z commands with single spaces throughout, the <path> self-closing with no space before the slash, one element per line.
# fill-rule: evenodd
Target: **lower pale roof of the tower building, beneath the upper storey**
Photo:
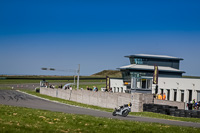
<path fill-rule="evenodd" d="M 132 69 L 132 70 L 150 70 L 154 71 L 154 66 L 150 65 L 137 65 L 137 64 L 131 64 L 127 66 L 122 66 L 118 69 L 125 70 L 125 69 Z M 158 66 L 159 71 L 166 71 L 166 72 L 178 72 L 178 73 L 185 73 L 184 71 L 181 71 L 179 69 L 175 69 L 172 67 L 166 67 L 166 66 Z"/>

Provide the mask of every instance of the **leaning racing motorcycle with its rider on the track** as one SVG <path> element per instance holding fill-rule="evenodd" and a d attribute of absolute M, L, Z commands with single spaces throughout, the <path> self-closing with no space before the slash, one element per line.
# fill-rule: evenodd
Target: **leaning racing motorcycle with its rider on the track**
<path fill-rule="evenodd" d="M 114 112 L 112 113 L 113 116 L 120 115 L 126 117 L 129 112 L 131 112 L 132 104 L 124 104 L 123 106 L 119 106 L 119 108 L 115 108 Z"/>

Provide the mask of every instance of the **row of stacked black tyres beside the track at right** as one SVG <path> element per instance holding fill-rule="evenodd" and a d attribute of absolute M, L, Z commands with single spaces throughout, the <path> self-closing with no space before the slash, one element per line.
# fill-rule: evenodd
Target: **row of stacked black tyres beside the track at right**
<path fill-rule="evenodd" d="M 177 106 L 143 104 L 143 111 L 166 114 L 177 117 L 200 118 L 200 111 L 178 109 Z"/>

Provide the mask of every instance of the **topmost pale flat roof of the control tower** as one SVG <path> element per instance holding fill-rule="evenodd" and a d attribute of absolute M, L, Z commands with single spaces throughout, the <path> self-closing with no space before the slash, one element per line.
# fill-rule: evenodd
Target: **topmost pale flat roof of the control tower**
<path fill-rule="evenodd" d="M 150 55 L 150 54 L 134 54 L 134 55 L 128 55 L 125 57 L 141 57 L 141 58 L 157 58 L 157 59 L 171 59 L 171 60 L 183 60 L 183 58 L 173 57 L 173 56 L 167 56 L 167 55 Z"/>

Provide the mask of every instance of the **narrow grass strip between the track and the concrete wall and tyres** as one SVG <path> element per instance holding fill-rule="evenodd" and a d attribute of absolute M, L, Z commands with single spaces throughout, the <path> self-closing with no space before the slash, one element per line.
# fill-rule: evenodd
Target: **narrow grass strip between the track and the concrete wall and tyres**
<path fill-rule="evenodd" d="M 75 106 L 80 106 L 80 107 L 85 107 L 85 108 L 91 108 L 91 109 L 97 109 L 97 110 L 107 111 L 107 112 L 112 112 L 114 110 L 114 109 L 110 109 L 110 108 L 102 108 L 102 107 L 99 107 L 99 106 L 87 105 L 87 104 L 82 104 L 82 103 L 78 103 L 78 102 L 74 102 L 74 101 L 69 101 L 69 100 L 55 98 L 55 97 L 51 97 L 51 96 L 47 96 L 47 95 L 42 95 L 42 94 L 36 93 L 34 91 L 30 91 L 30 90 L 22 90 L 22 91 L 29 93 L 29 94 L 32 94 L 32 95 L 42 97 L 42 98 L 46 98 L 46 99 L 49 99 L 49 100 L 58 101 L 58 102 L 66 103 L 66 104 L 70 104 L 70 105 L 75 105 Z M 174 116 L 152 113 L 152 112 L 131 112 L 130 115 L 200 123 L 199 118 L 174 117 Z"/>

